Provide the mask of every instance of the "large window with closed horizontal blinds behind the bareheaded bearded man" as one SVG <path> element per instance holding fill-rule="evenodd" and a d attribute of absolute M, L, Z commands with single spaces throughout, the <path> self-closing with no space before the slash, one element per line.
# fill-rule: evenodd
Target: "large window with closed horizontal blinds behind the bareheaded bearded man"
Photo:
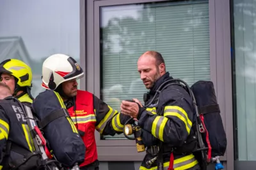
<path fill-rule="evenodd" d="M 122 100 L 143 102 L 137 60 L 147 50 L 160 52 L 170 75 L 189 85 L 210 80 L 208 8 L 200 0 L 102 7 L 102 100 L 118 111 Z"/>

